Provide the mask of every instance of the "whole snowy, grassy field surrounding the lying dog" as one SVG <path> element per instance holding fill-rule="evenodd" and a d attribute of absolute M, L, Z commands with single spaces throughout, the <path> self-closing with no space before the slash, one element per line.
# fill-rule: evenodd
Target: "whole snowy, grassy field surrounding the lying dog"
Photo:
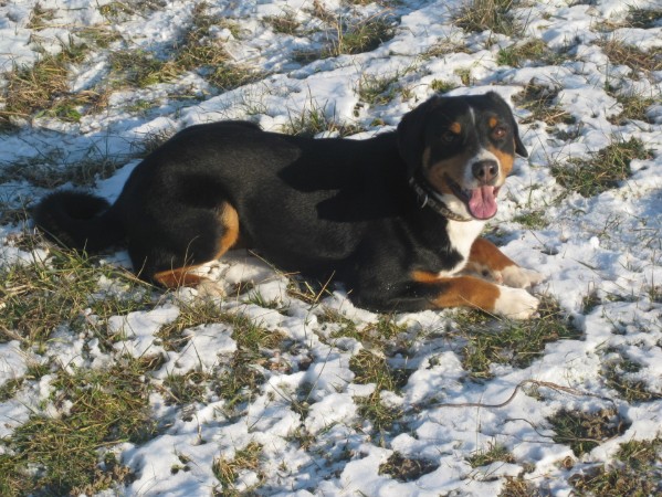
<path fill-rule="evenodd" d="M 0 0 L 0 495 L 662 493 L 662 10 L 653 0 Z M 525 321 L 377 315 L 245 251 L 227 294 L 46 243 L 219 119 L 364 139 L 493 89 L 518 159 L 485 236 Z"/>

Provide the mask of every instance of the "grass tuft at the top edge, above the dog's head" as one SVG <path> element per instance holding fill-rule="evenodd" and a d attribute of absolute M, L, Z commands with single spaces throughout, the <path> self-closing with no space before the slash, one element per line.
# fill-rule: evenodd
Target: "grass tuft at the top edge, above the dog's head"
<path fill-rule="evenodd" d="M 517 31 L 517 23 L 511 14 L 514 7 L 514 0 L 472 0 L 460 10 L 455 24 L 469 32 L 488 30 L 511 36 Z"/>

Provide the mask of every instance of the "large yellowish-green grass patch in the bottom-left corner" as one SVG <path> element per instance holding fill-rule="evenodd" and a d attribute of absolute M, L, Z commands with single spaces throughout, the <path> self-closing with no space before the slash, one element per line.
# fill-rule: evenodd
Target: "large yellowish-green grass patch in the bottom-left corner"
<path fill-rule="evenodd" d="M 107 371 L 61 371 L 52 401 L 71 408 L 60 417 L 35 413 L 2 442 L 0 494 L 93 494 L 130 480 L 127 468 L 98 463 L 107 447 L 154 434 L 144 374 L 132 360 Z"/>

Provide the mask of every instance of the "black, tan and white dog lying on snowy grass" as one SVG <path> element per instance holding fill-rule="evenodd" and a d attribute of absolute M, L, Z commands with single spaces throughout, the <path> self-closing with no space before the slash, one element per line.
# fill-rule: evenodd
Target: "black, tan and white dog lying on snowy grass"
<path fill-rule="evenodd" d="M 526 318 L 538 300 L 522 288 L 539 275 L 479 237 L 515 154 L 527 156 L 495 93 L 434 96 L 367 140 L 221 121 L 149 155 L 113 205 L 55 192 L 34 219 L 75 248 L 127 239 L 139 276 L 167 287 L 201 283 L 191 269 L 242 246 L 288 272 L 334 274 L 368 309 Z"/>

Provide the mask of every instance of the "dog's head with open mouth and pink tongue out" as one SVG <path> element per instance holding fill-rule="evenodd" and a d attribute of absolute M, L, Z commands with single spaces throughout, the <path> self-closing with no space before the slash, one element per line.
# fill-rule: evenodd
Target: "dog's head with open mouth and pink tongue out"
<path fill-rule="evenodd" d="M 528 154 L 508 105 L 496 93 L 434 96 L 406 114 L 398 147 L 410 177 L 421 177 L 461 216 L 496 214 L 496 195 L 515 154 Z"/>

